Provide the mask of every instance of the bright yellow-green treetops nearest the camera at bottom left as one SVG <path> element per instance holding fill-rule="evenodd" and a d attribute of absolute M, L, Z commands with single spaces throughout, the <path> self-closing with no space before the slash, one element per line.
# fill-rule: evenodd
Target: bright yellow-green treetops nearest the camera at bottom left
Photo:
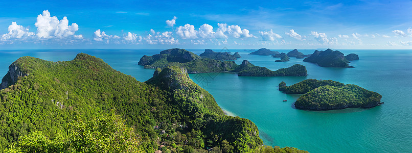
<path fill-rule="evenodd" d="M 114 113 L 83 122 L 75 120 L 65 134 L 50 140 L 42 132 L 33 132 L 5 152 L 143 152 L 132 128 Z"/>

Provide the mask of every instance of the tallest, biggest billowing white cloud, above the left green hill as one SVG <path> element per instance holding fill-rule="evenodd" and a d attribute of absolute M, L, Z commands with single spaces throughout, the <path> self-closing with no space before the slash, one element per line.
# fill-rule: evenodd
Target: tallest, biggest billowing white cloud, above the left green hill
<path fill-rule="evenodd" d="M 68 25 L 67 17 L 63 17 L 60 21 L 56 16 L 51 16 L 49 10 L 44 10 L 42 14 L 37 16 L 37 21 L 34 24 L 37 27 L 36 35 L 39 38 L 67 38 L 73 36 L 79 30 L 76 23 Z"/>

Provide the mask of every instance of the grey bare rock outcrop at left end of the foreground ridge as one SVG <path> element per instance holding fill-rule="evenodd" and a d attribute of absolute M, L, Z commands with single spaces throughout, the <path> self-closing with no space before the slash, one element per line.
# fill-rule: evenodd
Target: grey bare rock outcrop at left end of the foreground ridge
<path fill-rule="evenodd" d="M 19 77 L 26 77 L 30 73 L 25 73 L 21 71 L 20 67 L 14 62 L 9 66 L 9 71 L 3 77 L 2 83 L 0 84 L 0 90 L 5 89 L 17 82 Z"/>

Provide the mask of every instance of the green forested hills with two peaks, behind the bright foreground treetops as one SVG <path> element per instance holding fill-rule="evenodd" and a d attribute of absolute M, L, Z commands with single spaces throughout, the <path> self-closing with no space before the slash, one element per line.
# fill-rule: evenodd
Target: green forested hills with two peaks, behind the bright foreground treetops
<path fill-rule="evenodd" d="M 224 115 L 213 96 L 193 83 L 184 68 L 157 69 L 152 79 L 141 83 L 86 54 L 64 62 L 22 57 L 12 65 L 29 75 L 0 90 L 0 120 L 4 121 L 0 149 L 33 132 L 57 144 L 66 126 L 78 119 L 97 123 L 95 116 L 110 115 L 111 110 L 133 127 L 144 152 L 156 150 L 158 142 L 177 152 L 223 145 L 233 147 L 233 152 L 251 152 L 262 145 L 253 122 Z M 233 128 L 216 129 L 215 125 Z M 210 132 L 215 133 L 213 137 Z M 178 133 L 181 139 L 176 140 Z M 172 143 L 176 148 L 171 148 Z"/>

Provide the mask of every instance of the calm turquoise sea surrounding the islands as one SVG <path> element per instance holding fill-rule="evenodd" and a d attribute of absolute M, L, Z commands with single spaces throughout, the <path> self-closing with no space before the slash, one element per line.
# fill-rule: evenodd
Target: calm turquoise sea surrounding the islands
<path fill-rule="evenodd" d="M 143 55 L 158 54 L 162 49 L 67 49 L 67 50 L 0 50 L 0 75 L 21 56 L 50 61 L 72 60 L 77 53 L 102 58 L 111 67 L 146 81 L 153 69 L 136 65 Z M 203 49 L 189 49 L 200 54 Z M 216 50 L 218 51 L 218 50 Z M 305 65 L 307 77 L 238 77 L 236 73 L 190 74 L 208 90 L 228 114 L 248 118 L 256 123 L 266 145 L 293 146 L 310 152 L 412 152 L 412 50 L 340 50 L 355 53 L 355 68 L 325 68 L 303 59 L 274 62 L 269 56 L 246 55 L 242 59 L 271 70 L 299 63 Z M 278 50 L 289 52 L 290 50 Z M 313 50 L 299 50 L 311 54 Z M 278 90 L 305 79 L 334 80 L 356 84 L 382 95 L 385 104 L 371 109 L 303 111 L 293 108 L 299 95 Z M 287 99 L 287 102 L 282 100 Z"/>

